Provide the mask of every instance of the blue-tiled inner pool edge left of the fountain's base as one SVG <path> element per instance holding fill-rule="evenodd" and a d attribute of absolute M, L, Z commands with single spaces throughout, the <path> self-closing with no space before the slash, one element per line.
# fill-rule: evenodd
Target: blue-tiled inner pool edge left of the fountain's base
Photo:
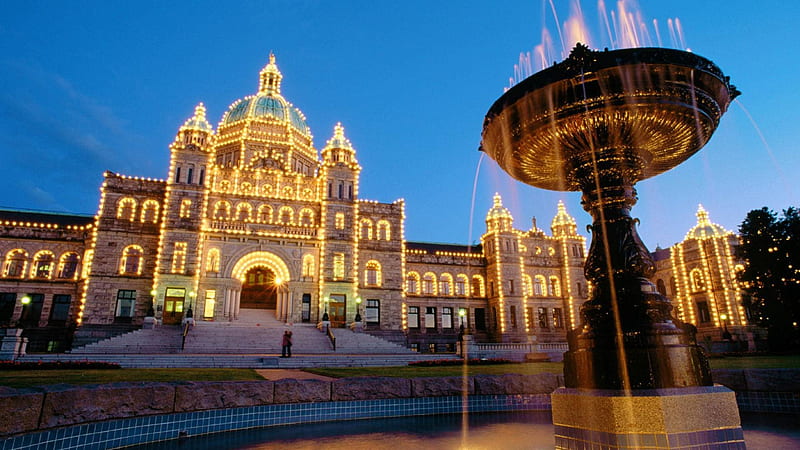
<path fill-rule="evenodd" d="M 464 398 L 424 397 L 287 403 L 109 420 L 52 429 L 0 441 L 0 449 L 112 449 L 225 431 L 278 425 L 456 414 Z M 549 394 L 470 395 L 470 413 L 549 411 Z"/>

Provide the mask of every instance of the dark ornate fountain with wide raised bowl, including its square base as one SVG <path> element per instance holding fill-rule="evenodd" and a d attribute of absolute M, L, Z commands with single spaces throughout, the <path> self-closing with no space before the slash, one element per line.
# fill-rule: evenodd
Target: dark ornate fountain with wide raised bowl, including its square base
<path fill-rule="evenodd" d="M 558 446 L 599 444 L 603 433 L 744 446 L 733 393 L 712 386 L 694 327 L 648 281 L 655 264 L 630 215 L 634 184 L 700 150 L 737 95 L 693 53 L 578 44 L 489 109 L 481 149 L 526 184 L 581 191 L 593 218 L 592 296 L 568 336 L 566 388 L 553 395 Z"/>

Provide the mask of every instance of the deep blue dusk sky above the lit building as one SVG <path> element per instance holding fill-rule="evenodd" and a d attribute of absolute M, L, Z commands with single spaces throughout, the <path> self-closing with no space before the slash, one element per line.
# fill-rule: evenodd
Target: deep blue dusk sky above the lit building
<path fill-rule="evenodd" d="M 553 4 L 560 23 L 574 10 Z M 663 46 L 681 47 L 667 25 L 678 18 L 683 47 L 717 63 L 742 91 L 700 153 L 637 185 L 633 215 L 648 247 L 682 240 L 700 203 L 729 230 L 751 209 L 800 206 L 800 3 L 626 5 L 652 36 L 658 21 Z M 613 48 L 598 4 L 581 9 L 590 46 Z M 7 2 L 0 207 L 93 214 L 103 171 L 164 178 L 168 146 L 195 105 L 204 102 L 216 125 L 232 102 L 256 92 L 272 51 L 282 93 L 306 115 L 317 149 L 344 125 L 363 167 L 360 197 L 406 200 L 406 239 L 478 241 L 494 192 L 517 228 L 529 229 L 535 216 L 549 233 L 564 200 L 586 234 L 579 193 L 523 185 L 484 158 L 470 235 L 483 117 L 543 28 L 560 41 L 541 0 Z"/>

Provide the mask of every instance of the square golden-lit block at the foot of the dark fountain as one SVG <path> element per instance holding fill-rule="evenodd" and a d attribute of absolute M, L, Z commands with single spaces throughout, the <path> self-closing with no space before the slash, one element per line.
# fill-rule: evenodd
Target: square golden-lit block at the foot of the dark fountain
<path fill-rule="evenodd" d="M 556 448 L 744 449 L 736 396 L 724 386 L 623 391 L 559 388 Z"/>

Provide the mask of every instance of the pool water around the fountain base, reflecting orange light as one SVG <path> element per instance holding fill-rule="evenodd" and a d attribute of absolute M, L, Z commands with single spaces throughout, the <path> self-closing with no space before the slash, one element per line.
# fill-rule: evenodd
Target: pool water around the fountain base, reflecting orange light
<path fill-rule="evenodd" d="M 800 417 L 742 414 L 745 441 L 753 449 L 799 449 Z M 218 433 L 134 447 L 136 449 L 391 450 L 552 449 L 549 412 L 457 414 L 287 425 Z"/>

